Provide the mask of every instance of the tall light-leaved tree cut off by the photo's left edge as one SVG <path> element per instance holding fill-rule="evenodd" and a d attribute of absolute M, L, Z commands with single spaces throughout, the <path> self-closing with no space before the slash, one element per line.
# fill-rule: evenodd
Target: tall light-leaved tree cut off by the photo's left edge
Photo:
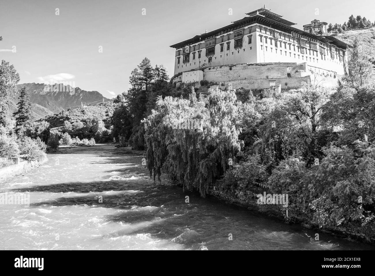
<path fill-rule="evenodd" d="M 7 126 L 7 110 L 10 98 L 17 94 L 16 84 L 20 81 L 20 75 L 13 65 L 5 60 L 0 65 L 0 124 Z"/>

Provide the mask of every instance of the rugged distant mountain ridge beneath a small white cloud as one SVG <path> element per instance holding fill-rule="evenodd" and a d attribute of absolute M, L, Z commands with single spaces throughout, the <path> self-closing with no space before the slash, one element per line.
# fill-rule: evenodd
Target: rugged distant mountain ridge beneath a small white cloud
<path fill-rule="evenodd" d="M 45 117 L 53 113 L 58 113 L 64 107 L 81 106 L 81 103 L 92 103 L 98 101 L 112 101 L 108 98 L 103 97 L 98 91 L 86 91 L 80 87 L 75 87 L 75 93 L 71 95 L 69 89 L 66 86 L 61 85 L 58 91 L 44 91 L 44 83 L 22 83 L 17 84 L 18 95 L 10 103 L 10 109 L 12 112 L 15 111 L 17 106 L 18 96 L 21 93 L 22 87 L 26 87 L 30 101 L 33 103 L 33 116 L 35 119 Z M 96 103 L 93 103 L 96 104 Z"/>

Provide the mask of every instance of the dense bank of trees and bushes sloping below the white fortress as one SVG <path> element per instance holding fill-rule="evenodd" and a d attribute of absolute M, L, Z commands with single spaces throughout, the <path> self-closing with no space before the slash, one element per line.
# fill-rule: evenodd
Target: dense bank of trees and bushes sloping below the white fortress
<path fill-rule="evenodd" d="M 203 99 L 196 92 L 210 83 L 178 89 L 155 80 L 144 59 L 114 112 L 113 134 L 145 148 L 154 180 L 166 173 L 201 196 L 211 186 L 234 198 L 288 194 L 291 214 L 322 227 L 373 222 L 375 86 L 359 41 L 353 46 L 337 90 L 306 83 L 268 98 L 229 86 Z"/>

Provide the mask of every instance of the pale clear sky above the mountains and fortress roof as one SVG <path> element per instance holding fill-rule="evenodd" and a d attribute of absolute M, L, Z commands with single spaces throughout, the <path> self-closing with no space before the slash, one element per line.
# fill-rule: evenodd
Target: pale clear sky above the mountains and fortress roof
<path fill-rule="evenodd" d="M 351 14 L 375 21 L 373 0 L 0 0 L 0 60 L 15 66 L 20 83 L 70 81 L 113 98 L 144 57 L 171 77 L 170 45 L 263 5 L 299 29 L 315 18 L 343 24 Z"/>

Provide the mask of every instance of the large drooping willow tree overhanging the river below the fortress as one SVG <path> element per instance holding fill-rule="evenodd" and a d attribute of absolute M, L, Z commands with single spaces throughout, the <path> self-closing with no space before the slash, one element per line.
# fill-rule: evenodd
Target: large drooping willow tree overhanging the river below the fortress
<path fill-rule="evenodd" d="M 234 90 L 210 90 L 207 107 L 194 92 L 188 100 L 158 97 L 156 109 L 142 121 L 150 176 L 160 181 L 165 172 L 204 197 L 243 146 L 234 124 L 240 105 Z"/>

